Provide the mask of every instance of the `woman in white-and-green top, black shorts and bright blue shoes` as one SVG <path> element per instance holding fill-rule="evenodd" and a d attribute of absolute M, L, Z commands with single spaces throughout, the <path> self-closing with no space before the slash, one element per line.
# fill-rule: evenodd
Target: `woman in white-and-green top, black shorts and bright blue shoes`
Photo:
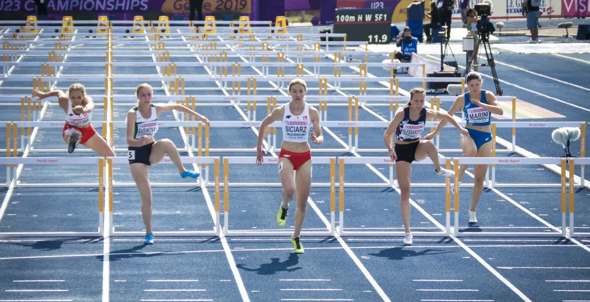
<path fill-rule="evenodd" d="M 194 115 L 200 121 L 209 125 L 209 120 L 201 114 L 179 104 L 152 104 L 153 88 L 148 84 L 140 84 L 135 94 L 137 106 L 127 112 L 127 159 L 129 170 L 137 190 L 142 199 L 142 218 L 146 227 L 145 244 L 153 244 L 152 232 L 152 188 L 149 184 L 148 165 L 158 164 L 166 155 L 180 173 L 182 178 L 199 177 L 195 170 L 185 170 L 181 155 L 176 146 L 168 138 L 155 141 L 154 135 L 158 131 L 158 116 L 162 112 L 176 110 Z"/>

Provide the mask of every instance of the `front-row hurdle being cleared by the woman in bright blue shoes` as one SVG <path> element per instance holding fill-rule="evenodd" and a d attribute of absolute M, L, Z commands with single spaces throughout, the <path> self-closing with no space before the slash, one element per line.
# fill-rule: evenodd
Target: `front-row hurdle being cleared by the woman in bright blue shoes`
<path fill-rule="evenodd" d="M 215 209 L 215 221 L 212 231 L 155 231 L 153 232 L 156 236 L 218 236 L 220 234 L 220 224 L 219 224 L 219 158 L 217 157 L 181 157 L 183 163 L 186 164 L 214 164 L 214 171 L 215 171 L 215 187 L 214 187 L 214 209 Z M 162 160 L 162 163 L 165 164 L 172 164 L 170 158 L 165 157 Z M 109 188 L 117 187 L 117 185 L 113 182 L 113 164 L 129 164 L 127 158 L 124 157 L 109 157 L 107 158 L 107 166 L 109 171 Z M 150 184 L 152 185 L 152 184 Z M 174 187 L 175 185 L 170 185 L 170 187 Z M 205 191 L 205 187 L 204 188 Z M 208 193 L 205 193 L 208 194 Z M 109 203 L 109 225 L 113 225 L 109 232 L 110 236 L 143 236 L 145 232 L 141 231 L 116 231 L 114 224 L 113 224 L 113 190 L 109 190 L 109 194 L 107 196 L 107 201 Z"/>

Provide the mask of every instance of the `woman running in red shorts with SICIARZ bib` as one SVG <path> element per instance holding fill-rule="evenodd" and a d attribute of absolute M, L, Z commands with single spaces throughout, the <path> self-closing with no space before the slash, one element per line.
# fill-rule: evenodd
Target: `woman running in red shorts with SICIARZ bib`
<path fill-rule="evenodd" d="M 283 203 L 278 209 L 277 223 L 281 227 L 285 225 L 289 202 L 297 193 L 297 210 L 295 211 L 295 228 L 291 243 L 295 253 L 303 254 L 303 245 L 299 239 L 303 221 L 305 220 L 307 197 L 312 186 L 312 152 L 309 147 L 308 137 L 316 145 L 324 141 L 322 128 L 320 127 L 320 114 L 316 108 L 305 102 L 307 85 L 302 79 L 294 79 L 289 84 L 291 101 L 285 105 L 274 108 L 260 124 L 258 130 L 258 143 L 256 163 L 262 164 L 266 151 L 263 148 L 264 134 L 268 125 L 281 120 L 283 125 L 283 142 L 281 152 L 278 154 L 278 175 L 283 184 Z M 313 129 L 311 129 L 313 127 Z M 296 171 L 293 180 L 293 171 Z"/>

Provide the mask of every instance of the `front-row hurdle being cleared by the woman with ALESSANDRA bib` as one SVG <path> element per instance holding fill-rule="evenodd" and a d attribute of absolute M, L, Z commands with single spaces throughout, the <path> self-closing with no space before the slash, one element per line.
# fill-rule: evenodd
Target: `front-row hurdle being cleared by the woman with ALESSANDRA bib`
<path fill-rule="evenodd" d="M 389 182 L 383 183 L 380 185 L 372 185 L 372 184 L 360 184 L 363 187 L 394 187 L 392 185 L 393 182 L 393 165 L 394 161 L 391 160 L 389 157 L 339 157 L 338 158 L 338 179 L 339 179 L 339 225 L 338 225 L 338 234 L 340 236 L 404 236 L 405 231 L 345 231 L 344 228 L 344 212 L 345 212 L 345 187 L 358 187 L 359 184 L 346 184 L 345 182 L 345 166 L 346 164 L 365 164 L 365 165 L 373 165 L 373 164 L 388 164 L 389 165 Z M 448 158 L 446 160 L 446 167 L 451 167 L 451 159 Z M 431 165 L 432 161 L 430 159 L 415 162 L 414 164 L 427 164 Z M 427 236 L 427 237 L 449 237 L 450 236 L 450 209 L 451 209 L 451 182 L 450 178 L 446 178 L 445 182 L 445 213 L 446 213 L 446 225 L 443 231 L 416 231 L 412 232 L 412 235 L 415 236 Z"/>

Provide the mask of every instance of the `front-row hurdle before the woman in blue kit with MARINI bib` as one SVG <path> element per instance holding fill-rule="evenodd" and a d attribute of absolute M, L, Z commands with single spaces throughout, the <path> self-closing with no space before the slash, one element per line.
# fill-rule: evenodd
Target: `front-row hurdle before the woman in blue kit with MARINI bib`
<path fill-rule="evenodd" d="M 576 161 L 580 163 L 587 164 L 589 161 L 588 158 L 576 158 Z M 573 174 L 573 165 L 574 161 L 569 159 L 569 175 L 566 175 L 566 159 L 565 158 L 513 158 L 513 157 L 496 157 L 496 158 L 483 158 L 483 157 L 461 157 L 461 158 L 454 158 L 454 169 L 455 169 L 455 177 L 454 177 L 454 235 L 456 237 L 566 237 L 566 200 L 568 195 L 567 187 L 569 187 L 569 199 L 570 199 L 570 232 L 573 234 L 573 188 L 574 185 L 574 176 Z M 470 232 L 470 231 L 460 231 L 459 230 L 459 195 L 460 195 L 460 188 L 458 185 L 458 167 L 460 164 L 500 164 L 500 165 L 560 165 L 561 167 L 561 183 L 559 184 L 560 191 L 561 191 L 561 214 L 562 214 L 562 223 L 561 223 L 561 230 L 558 227 L 550 225 L 545 221 L 541 221 L 545 224 L 548 228 L 552 229 L 552 232 Z M 569 184 L 566 182 L 566 178 L 569 178 Z M 517 207 L 522 207 L 517 205 Z M 526 209 L 525 209 L 526 210 Z M 468 228 L 467 228 L 468 230 Z"/>

